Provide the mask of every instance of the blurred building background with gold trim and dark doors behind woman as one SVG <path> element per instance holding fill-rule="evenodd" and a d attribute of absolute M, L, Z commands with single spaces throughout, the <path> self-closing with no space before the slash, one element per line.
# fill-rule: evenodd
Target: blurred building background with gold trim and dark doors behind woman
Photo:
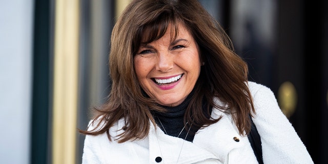
<path fill-rule="evenodd" d="M 1 163 L 81 163 L 77 128 L 109 93 L 111 30 L 128 2 L 0 0 Z M 249 79 L 273 90 L 314 162 L 328 163 L 327 1 L 199 2 Z"/>

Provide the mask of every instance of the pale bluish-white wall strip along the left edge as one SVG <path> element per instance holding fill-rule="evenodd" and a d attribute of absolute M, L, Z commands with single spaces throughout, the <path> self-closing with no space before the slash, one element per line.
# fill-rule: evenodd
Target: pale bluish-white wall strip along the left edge
<path fill-rule="evenodd" d="M 0 1 L 0 159 L 29 163 L 33 1 Z"/>

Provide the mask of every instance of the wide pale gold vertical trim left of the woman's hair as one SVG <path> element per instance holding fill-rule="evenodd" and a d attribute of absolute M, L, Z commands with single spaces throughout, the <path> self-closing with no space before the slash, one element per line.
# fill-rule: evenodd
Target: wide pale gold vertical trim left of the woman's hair
<path fill-rule="evenodd" d="M 75 163 L 79 1 L 55 1 L 52 163 Z"/>

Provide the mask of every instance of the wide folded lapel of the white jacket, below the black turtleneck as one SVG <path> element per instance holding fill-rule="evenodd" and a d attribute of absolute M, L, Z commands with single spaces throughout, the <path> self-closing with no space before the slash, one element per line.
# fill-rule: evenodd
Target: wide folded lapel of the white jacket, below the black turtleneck
<path fill-rule="evenodd" d="M 160 157 L 163 163 L 192 163 L 200 160 L 215 159 L 224 163 L 232 149 L 242 147 L 244 143 L 234 137 L 241 138 L 232 124 L 229 115 L 213 109 L 212 117 L 222 118 L 213 125 L 200 129 L 193 142 L 163 133 L 159 127 L 151 124 L 149 132 L 149 160 L 155 162 Z M 182 148 L 182 149 L 181 149 Z M 180 155 L 179 155 L 180 154 Z"/>

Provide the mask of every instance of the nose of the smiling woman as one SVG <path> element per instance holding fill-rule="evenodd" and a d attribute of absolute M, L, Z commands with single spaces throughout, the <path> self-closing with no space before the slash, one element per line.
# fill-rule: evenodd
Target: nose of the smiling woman
<path fill-rule="evenodd" d="M 156 70 L 160 72 L 168 72 L 173 68 L 174 60 L 172 54 L 168 52 L 159 52 L 156 64 Z"/>

